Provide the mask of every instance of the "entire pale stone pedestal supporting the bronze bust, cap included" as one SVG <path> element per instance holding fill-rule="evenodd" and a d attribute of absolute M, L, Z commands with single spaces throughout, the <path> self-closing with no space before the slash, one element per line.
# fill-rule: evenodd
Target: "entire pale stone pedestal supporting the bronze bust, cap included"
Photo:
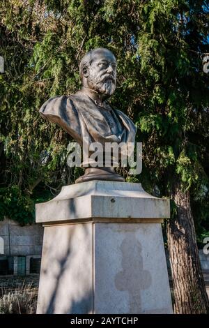
<path fill-rule="evenodd" d="M 161 223 L 169 200 L 88 181 L 36 204 L 45 227 L 37 313 L 172 313 Z"/>

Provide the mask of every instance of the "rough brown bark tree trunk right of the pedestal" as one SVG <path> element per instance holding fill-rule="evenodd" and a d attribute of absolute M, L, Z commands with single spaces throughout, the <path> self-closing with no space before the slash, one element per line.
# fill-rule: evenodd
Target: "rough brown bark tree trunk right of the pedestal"
<path fill-rule="evenodd" d="M 176 218 L 167 225 L 169 255 L 173 278 L 175 313 L 208 313 L 209 302 L 196 244 L 189 192 L 176 184 L 173 200 Z"/>

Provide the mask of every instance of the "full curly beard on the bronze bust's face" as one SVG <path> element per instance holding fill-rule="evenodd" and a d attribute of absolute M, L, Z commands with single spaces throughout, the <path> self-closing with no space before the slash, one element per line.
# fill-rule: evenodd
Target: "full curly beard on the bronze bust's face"
<path fill-rule="evenodd" d="M 111 96 L 116 89 L 114 77 L 105 74 L 103 77 L 88 77 L 88 87 L 97 91 L 99 94 Z"/>

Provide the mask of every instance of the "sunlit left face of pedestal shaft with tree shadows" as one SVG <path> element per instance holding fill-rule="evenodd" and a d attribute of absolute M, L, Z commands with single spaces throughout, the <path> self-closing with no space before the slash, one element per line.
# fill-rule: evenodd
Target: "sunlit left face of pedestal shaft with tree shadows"
<path fill-rule="evenodd" d="M 93 226 L 45 228 L 37 313 L 93 310 Z"/>

